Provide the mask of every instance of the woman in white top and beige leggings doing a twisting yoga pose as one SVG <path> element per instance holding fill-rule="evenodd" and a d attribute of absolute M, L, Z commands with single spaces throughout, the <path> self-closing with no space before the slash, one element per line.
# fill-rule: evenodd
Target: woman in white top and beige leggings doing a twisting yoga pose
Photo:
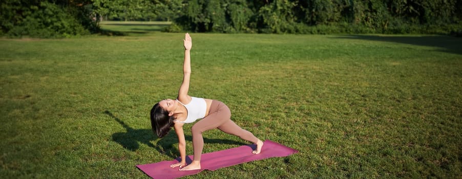
<path fill-rule="evenodd" d="M 230 120 L 231 112 L 229 108 L 220 101 L 189 96 L 191 77 L 191 56 L 192 48 L 191 36 L 186 33 L 184 40 L 184 61 L 183 61 L 183 82 L 178 91 L 176 100 L 165 99 L 153 106 L 151 109 L 151 125 L 154 133 L 159 138 L 164 137 L 173 127 L 178 136 L 178 149 L 180 150 L 181 162 L 170 167 L 179 167 L 180 170 L 198 170 L 204 139 L 202 132 L 218 128 L 223 132 L 240 137 L 243 140 L 257 144 L 257 149 L 253 151 L 258 154 L 261 151 L 263 142 L 256 138 L 252 133 L 242 129 Z M 186 166 L 186 142 L 184 139 L 183 125 L 199 120 L 191 128 L 193 134 L 194 159 L 190 165 Z"/>

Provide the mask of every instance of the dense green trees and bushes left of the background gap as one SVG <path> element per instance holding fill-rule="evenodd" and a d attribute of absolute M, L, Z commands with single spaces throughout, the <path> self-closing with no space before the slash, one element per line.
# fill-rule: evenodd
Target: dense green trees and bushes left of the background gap
<path fill-rule="evenodd" d="M 1 4 L 1 34 L 69 37 L 97 30 L 90 1 L 5 0 Z"/>

